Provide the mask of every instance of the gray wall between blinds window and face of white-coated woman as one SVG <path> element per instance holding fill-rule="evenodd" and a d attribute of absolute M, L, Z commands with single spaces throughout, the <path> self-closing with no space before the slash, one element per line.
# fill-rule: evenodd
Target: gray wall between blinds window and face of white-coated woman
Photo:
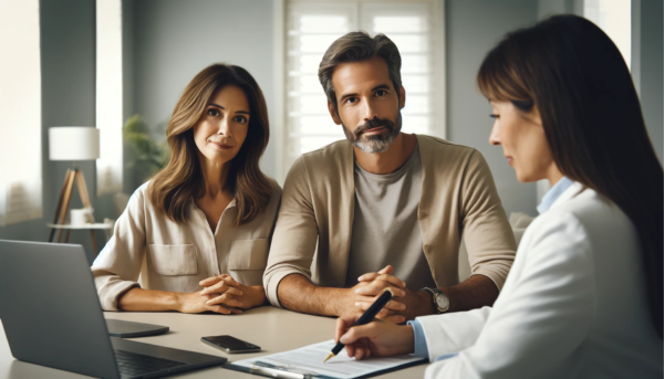
<path fill-rule="evenodd" d="M 476 90 L 475 75 L 485 54 L 505 35 L 537 21 L 531 0 L 447 0 L 447 137 L 477 148 L 491 168 L 502 206 L 509 214 L 536 211 L 535 183 L 520 183 L 502 156 L 489 145 L 491 107 Z"/>

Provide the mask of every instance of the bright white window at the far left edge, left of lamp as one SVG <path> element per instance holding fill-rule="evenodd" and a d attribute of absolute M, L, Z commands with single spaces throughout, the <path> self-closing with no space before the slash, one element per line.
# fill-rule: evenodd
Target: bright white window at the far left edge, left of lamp
<path fill-rule="evenodd" d="M 39 0 L 0 1 L 0 227 L 42 218 Z"/>

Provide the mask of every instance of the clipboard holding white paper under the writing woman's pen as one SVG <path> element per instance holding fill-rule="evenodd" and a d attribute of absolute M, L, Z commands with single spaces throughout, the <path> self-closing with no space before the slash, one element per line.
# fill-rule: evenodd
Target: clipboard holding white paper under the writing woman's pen
<path fill-rule="evenodd" d="M 257 358 L 227 362 L 222 367 L 229 370 L 247 372 L 269 378 L 283 379 L 340 379 L 370 378 L 377 375 L 401 370 L 421 365 L 427 358 L 412 355 L 371 358 L 356 365 L 347 356 L 338 356 L 336 361 L 322 364 L 324 357 L 334 346 L 334 341 L 313 344 L 299 349 L 282 351 Z M 319 355 L 320 360 L 319 360 Z M 372 364 L 373 361 L 373 364 Z M 369 364 L 369 365 L 367 365 Z"/>

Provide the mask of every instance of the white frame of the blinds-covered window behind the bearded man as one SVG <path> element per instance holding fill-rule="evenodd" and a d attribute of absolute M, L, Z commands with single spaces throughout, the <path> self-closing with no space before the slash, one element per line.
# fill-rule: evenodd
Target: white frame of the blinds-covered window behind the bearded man
<path fill-rule="evenodd" d="M 288 64 L 287 64 L 287 39 L 288 39 L 288 7 L 291 3 L 298 3 L 300 9 L 315 9 L 321 13 L 330 14 L 330 11 L 340 7 L 347 7 L 354 12 L 354 24 L 361 24 L 359 20 L 359 9 L 362 6 L 372 7 L 380 4 L 382 9 L 398 7 L 404 3 L 427 3 L 432 7 L 430 15 L 430 59 L 433 64 L 432 91 L 429 94 L 430 106 L 430 127 L 428 134 L 436 137 L 446 138 L 446 91 L 445 91 L 445 0 L 274 0 L 274 98 L 276 109 L 272 113 L 272 133 L 276 136 L 277 143 L 277 180 L 283 185 L 288 170 L 295 157 L 289 155 L 291 138 L 289 136 L 289 119 L 288 119 Z M 326 11 L 326 12 L 325 12 Z M 347 14 L 347 13 L 345 13 Z M 322 87 L 320 88 L 324 95 Z M 408 88 L 406 87 L 406 99 Z M 341 128 L 341 126 L 340 126 Z"/>

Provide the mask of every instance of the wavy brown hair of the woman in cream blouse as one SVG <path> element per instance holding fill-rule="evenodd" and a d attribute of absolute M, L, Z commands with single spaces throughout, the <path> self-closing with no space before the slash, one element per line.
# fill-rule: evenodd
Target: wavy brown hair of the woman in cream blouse
<path fill-rule="evenodd" d="M 235 193 L 235 225 L 253 220 L 270 201 L 272 187 L 258 166 L 270 138 L 266 99 L 245 69 L 212 64 L 191 80 L 177 101 L 166 129 L 172 151 L 170 161 L 152 179 L 147 188 L 153 206 L 175 222 L 187 221 L 187 203 L 193 198 L 203 196 L 205 190 L 193 127 L 210 98 L 227 85 L 241 88 L 250 108 L 247 138 L 230 161 L 226 180 L 227 189 Z"/>

